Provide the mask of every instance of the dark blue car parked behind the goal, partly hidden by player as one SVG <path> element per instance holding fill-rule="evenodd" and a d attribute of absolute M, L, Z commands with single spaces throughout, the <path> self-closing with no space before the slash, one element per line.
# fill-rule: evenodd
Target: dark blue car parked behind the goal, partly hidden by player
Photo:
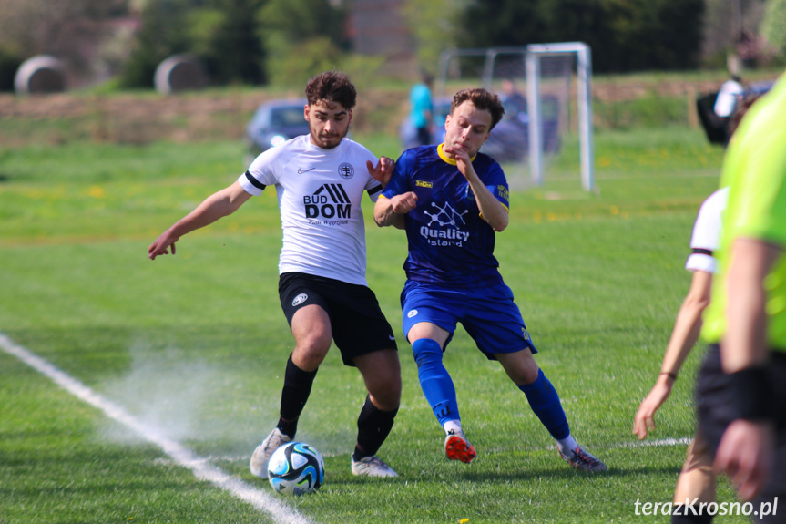
<path fill-rule="evenodd" d="M 444 141 L 444 121 L 450 112 L 451 98 L 434 100 L 434 143 Z M 526 99 L 503 99 L 505 117 L 491 130 L 488 139 L 480 149 L 500 162 L 519 161 L 529 151 L 529 117 L 526 114 Z M 544 150 L 554 152 L 559 149 L 559 99 L 546 96 L 541 106 L 543 111 Z M 404 118 L 399 126 L 399 139 L 404 149 L 417 145 L 417 131 L 409 118 Z"/>

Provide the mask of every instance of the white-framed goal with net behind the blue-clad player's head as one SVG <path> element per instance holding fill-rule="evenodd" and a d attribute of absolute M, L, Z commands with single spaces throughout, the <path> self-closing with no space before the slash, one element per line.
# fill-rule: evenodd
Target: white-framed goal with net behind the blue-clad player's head
<path fill-rule="evenodd" d="M 435 112 L 444 118 L 460 88 L 494 91 L 505 104 L 505 118 L 481 150 L 503 164 L 510 187 L 575 186 L 580 180 L 591 191 L 591 77 L 589 48 L 582 43 L 445 51 Z"/>

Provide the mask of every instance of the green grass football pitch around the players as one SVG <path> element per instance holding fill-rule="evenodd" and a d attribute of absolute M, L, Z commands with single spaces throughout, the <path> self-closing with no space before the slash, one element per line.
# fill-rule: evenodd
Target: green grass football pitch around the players
<path fill-rule="evenodd" d="M 358 139 L 397 154 L 390 138 Z M 146 256 L 160 231 L 244 169 L 239 143 L 0 145 L 0 333 L 307 522 L 668 521 L 637 516 L 635 503 L 671 499 L 685 446 L 669 439 L 692 434 L 700 352 L 659 412 L 659 445 L 638 445 L 630 426 L 688 290 L 690 229 L 717 187 L 721 151 L 688 128 L 598 133 L 596 148 L 599 191 L 584 193 L 571 164 L 556 163 L 545 187 L 512 194 L 496 254 L 573 434 L 606 475 L 562 463 L 526 398 L 461 330 L 445 365 L 479 457 L 444 459 L 401 333 L 406 243 L 367 212 L 368 278 L 403 363 L 403 405 L 380 456 L 401 477 L 352 477 L 363 387 L 335 351 L 298 435 L 325 457 L 325 486 L 279 498 L 251 477 L 291 351 L 276 199 L 267 192 L 184 238 L 177 256 Z M 719 499 L 733 500 L 728 484 Z M 281 521 L 0 352 L 3 524 Z"/>

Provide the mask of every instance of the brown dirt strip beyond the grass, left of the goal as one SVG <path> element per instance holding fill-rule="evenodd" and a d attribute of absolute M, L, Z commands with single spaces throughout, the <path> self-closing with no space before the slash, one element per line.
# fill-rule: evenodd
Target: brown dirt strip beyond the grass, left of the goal
<path fill-rule="evenodd" d="M 293 95 L 297 96 L 297 95 Z M 263 92 L 188 93 L 172 96 L 68 93 L 19 97 L 0 95 L 0 139 L 26 143 L 29 129 L 46 124 L 46 141 L 94 139 L 143 144 L 242 139 L 254 109 L 271 98 Z M 406 93 L 374 91 L 355 109 L 353 127 L 362 132 L 395 132 L 406 111 Z M 59 137 L 59 139 L 58 139 Z"/>

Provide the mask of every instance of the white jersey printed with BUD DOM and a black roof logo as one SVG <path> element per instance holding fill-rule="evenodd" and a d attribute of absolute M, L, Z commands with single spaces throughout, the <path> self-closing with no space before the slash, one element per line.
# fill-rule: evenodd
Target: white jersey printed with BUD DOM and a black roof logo
<path fill-rule="evenodd" d="M 350 139 L 322 149 L 303 135 L 263 152 L 240 175 L 240 185 L 251 195 L 276 187 L 284 236 L 280 274 L 303 272 L 368 285 L 361 200 L 368 190 L 376 201 L 383 188 L 366 161 L 378 162 Z"/>

